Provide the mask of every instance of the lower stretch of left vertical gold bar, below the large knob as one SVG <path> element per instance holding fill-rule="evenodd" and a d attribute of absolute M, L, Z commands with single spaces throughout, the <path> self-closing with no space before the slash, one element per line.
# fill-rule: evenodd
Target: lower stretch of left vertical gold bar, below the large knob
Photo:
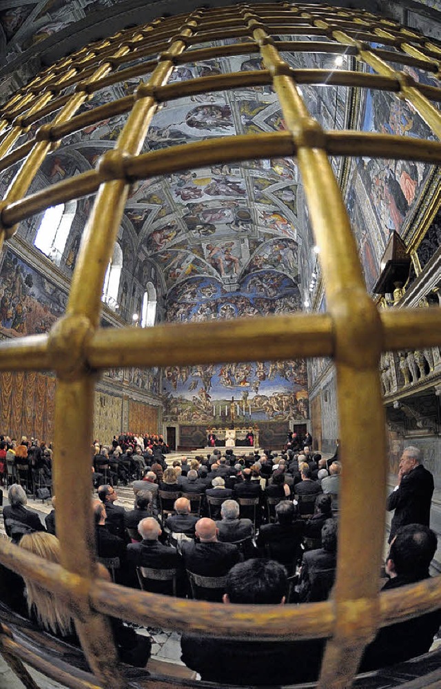
<path fill-rule="evenodd" d="M 64 327 L 63 327 L 64 326 Z M 81 346 L 85 330 L 79 322 L 76 330 L 69 329 L 65 319 L 57 322 L 50 338 L 56 340 L 54 358 L 69 353 L 74 337 Z M 76 372 L 78 373 L 78 372 Z M 90 501 L 90 438 L 93 433 L 93 399 L 95 377 L 90 373 L 78 375 L 75 380 L 59 378 L 55 391 L 54 443 L 57 451 L 52 461 L 55 495 L 59 501 L 57 509 L 57 537 L 61 545 L 61 565 L 69 572 L 92 579 L 95 574 L 95 542 L 92 506 Z M 81 433 L 78 429 L 81 428 Z M 76 477 L 66 481 L 65 466 L 72 461 L 70 443 L 75 441 Z M 72 524 L 75 529 L 72 530 Z M 76 632 L 90 667 L 103 686 L 120 689 L 123 684 L 117 668 L 118 657 L 114 646 L 112 630 L 107 618 L 90 611 L 87 589 L 76 600 L 80 611 L 75 617 Z"/>

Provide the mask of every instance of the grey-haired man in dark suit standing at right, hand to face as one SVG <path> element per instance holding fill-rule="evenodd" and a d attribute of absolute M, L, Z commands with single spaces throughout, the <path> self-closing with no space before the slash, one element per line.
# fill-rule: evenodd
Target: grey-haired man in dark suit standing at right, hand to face
<path fill-rule="evenodd" d="M 433 476 L 422 466 L 421 451 L 404 448 L 398 470 L 398 486 L 387 499 L 387 510 L 395 510 L 389 543 L 397 529 L 406 524 L 430 525 L 430 506 L 433 495 Z"/>

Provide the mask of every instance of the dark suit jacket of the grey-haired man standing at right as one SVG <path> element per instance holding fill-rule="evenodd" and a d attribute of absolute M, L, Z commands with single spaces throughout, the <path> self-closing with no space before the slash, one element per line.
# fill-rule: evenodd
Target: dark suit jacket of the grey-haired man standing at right
<path fill-rule="evenodd" d="M 400 526 L 429 526 L 432 495 L 433 476 L 422 464 L 417 464 L 409 474 L 402 477 L 398 490 L 393 490 L 387 499 L 388 512 L 395 510 L 389 542 Z"/>

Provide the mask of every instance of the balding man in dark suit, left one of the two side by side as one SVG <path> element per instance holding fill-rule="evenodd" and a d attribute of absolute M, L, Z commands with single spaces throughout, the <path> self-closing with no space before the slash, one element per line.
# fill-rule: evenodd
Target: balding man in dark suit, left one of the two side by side
<path fill-rule="evenodd" d="M 163 546 L 158 541 L 162 531 L 156 519 L 143 519 L 138 530 L 143 539 L 141 543 L 129 543 L 127 546 L 127 566 L 132 568 L 132 574 L 136 567 L 160 570 L 180 568 L 181 559 L 176 548 Z M 149 580 L 148 590 L 154 593 L 170 592 L 170 584 L 167 581 Z"/>

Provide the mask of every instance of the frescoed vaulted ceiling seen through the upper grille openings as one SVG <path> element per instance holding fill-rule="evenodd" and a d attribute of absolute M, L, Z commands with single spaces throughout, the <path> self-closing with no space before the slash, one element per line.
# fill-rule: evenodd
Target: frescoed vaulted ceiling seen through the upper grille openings
<path fill-rule="evenodd" d="M 307 53 L 285 57 L 296 68 L 329 67 L 333 59 L 326 54 Z M 260 59 L 249 55 L 190 63 L 176 68 L 171 81 L 261 67 Z M 138 84 L 139 79 L 132 79 L 105 88 L 82 110 L 124 97 Z M 349 89 L 305 86 L 304 92 L 311 112 L 324 128 L 347 125 Z M 95 166 L 105 150 L 114 146 L 124 123 L 125 115 L 107 119 L 65 139 L 57 154 L 43 166 L 48 181 L 53 183 L 74 174 L 79 161 L 83 161 L 84 168 Z M 284 127 L 278 99 L 269 86 L 185 97 L 163 103 L 152 120 L 143 152 L 207 137 L 273 132 Z M 333 164 L 336 174 L 340 174 L 341 159 Z M 291 301 L 294 299 L 296 308 L 300 308 L 300 254 L 308 230 L 302 193 L 300 203 L 298 195 L 294 159 L 203 167 L 135 183 L 124 225 L 132 229 L 136 256 L 156 264 L 165 292 L 170 295 L 169 309 L 178 294 L 176 287 L 194 277 L 217 281 L 223 293 L 246 294 L 251 274 L 256 274 L 260 283 L 260 295 L 280 297 L 279 303 L 286 301 L 289 285 Z M 280 290 L 283 285 L 280 293 L 279 284 Z M 202 302 L 202 294 L 200 299 Z M 292 310 L 291 302 L 287 307 Z M 247 312 L 263 310 L 248 306 Z"/>

